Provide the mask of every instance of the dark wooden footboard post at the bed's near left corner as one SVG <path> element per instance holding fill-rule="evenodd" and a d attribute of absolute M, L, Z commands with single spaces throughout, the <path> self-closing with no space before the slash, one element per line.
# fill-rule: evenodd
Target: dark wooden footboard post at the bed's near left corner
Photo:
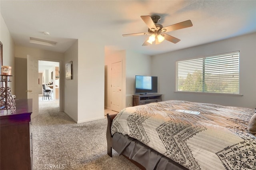
<path fill-rule="evenodd" d="M 107 119 L 108 119 L 108 126 L 107 126 L 107 133 L 106 133 L 106 137 L 107 137 L 107 152 L 108 155 L 110 157 L 112 157 L 112 134 L 111 134 L 111 125 L 112 125 L 112 121 L 113 119 L 116 117 L 117 114 L 115 115 L 110 115 L 109 113 L 107 113 Z"/>

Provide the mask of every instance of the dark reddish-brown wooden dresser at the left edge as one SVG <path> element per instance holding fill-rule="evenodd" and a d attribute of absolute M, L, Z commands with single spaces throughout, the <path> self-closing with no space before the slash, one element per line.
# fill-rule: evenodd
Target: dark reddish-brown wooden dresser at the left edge
<path fill-rule="evenodd" d="M 15 100 L 16 112 L 0 110 L 0 169 L 32 169 L 32 99 Z"/>

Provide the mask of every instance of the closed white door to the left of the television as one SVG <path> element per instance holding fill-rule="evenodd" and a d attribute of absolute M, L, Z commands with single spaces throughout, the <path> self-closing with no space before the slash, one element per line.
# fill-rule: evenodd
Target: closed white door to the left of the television
<path fill-rule="evenodd" d="M 122 110 L 122 61 L 111 65 L 111 110 Z"/>

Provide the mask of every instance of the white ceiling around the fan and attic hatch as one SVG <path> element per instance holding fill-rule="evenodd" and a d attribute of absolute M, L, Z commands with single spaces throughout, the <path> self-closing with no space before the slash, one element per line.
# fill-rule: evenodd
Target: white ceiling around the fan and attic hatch
<path fill-rule="evenodd" d="M 256 0 L 1 0 L 0 10 L 16 45 L 58 52 L 83 39 L 154 55 L 256 32 Z M 181 40 L 176 44 L 142 46 L 146 35 L 122 36 L 147 32 L 140 16 L 156 14 L 164 27 L 185 20 L 193 26 L 168 32 Z M 30 37 L 58 43 L 33 44 Z"/>

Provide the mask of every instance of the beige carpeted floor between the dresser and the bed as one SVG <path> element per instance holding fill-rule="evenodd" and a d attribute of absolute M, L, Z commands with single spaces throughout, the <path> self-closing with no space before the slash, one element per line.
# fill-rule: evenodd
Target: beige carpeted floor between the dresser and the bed
<path fill-rule="evenodd" d="M 112 158 L 106 154 L 106 119 L 76 124 L 58 110 L 39 98 L 39 115 L 31 121 L 34 170 L 138 169 L 114 150 Z"/>

